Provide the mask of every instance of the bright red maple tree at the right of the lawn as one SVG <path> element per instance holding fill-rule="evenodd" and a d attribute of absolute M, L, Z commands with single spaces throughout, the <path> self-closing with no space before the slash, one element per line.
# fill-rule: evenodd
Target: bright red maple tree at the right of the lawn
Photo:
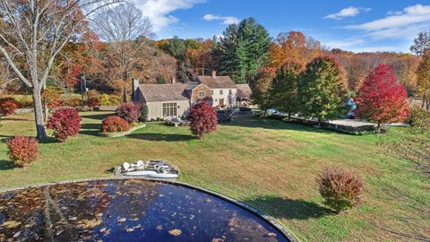
<path fill-rule="evenodd" d="M 357 102 L 356 116 L 378 124 L 400 122 L 409 116 L 408 95 L 388 65 L 378 65 L 366 77 Z"/>

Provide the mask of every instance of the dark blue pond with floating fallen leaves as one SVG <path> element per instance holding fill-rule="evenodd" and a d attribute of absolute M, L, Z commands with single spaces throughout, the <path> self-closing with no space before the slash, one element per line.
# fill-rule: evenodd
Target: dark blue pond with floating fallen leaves
<path fill-rule="evenodd" d="M 0 241 L 288 241 L 251 212 L 183 186 L 92 181 L 0 194 Z"/>

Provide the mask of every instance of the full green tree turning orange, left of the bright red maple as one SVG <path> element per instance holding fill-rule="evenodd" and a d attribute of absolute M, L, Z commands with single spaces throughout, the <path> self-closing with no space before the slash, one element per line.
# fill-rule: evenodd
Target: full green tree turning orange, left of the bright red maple
<path fill-rule="evenodd" d="M 300 113 L 321 121 L 338 118 L 347 111 L 344 75 L 337 61 L 316 57 L 306 65 L 298 82 Z"/>

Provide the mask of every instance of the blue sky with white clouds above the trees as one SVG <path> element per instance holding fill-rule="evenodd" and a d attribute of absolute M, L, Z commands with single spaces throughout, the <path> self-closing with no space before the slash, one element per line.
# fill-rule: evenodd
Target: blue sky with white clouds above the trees
<path fill-rule="evenodd" d="M 134 0 L 159 39 L 211 38 L 228 23 L 254 17 L 275 38 L 300 30 L 329 48 L 409 52 L 430 30 L 430 1 Z"/>

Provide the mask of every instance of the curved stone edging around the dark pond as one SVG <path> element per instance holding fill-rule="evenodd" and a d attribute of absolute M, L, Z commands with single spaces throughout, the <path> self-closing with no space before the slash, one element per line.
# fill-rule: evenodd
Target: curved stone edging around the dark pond
<path fill-rule="evenodd" d="M 64 180 L 64 181 L 58 181 L 58 182 L 47 182 L 47 183 L 41 183 L 41 184 L 35 184 L 35 185 L 29 185 L 29 186 L 18 186 L 13 188 L 4 188 L 0 189 L 0 194 L 3 193 L 10 193 L 15 192 L 27 188 L 38 188 L 43 186 L 55 186 L 55 185 L 64 185 L 64 184 L 71 184 L 71 183 L 79 183 L 79 182 L 92 182 L 92 181 L 112 181 L 112 180 L 144 180 L 144 181 L 150 181 L 150 182 L 156 182 L 156 183 L 164 183 L 164 184 L 170 184 L 175 186 L 183 186 L 186 188 L 190 188 L 205 194 L 210 194 L 215 197 L 218 197 L 219 199 L 222 199 L 228 203 L 232 203 L 242 209 L 244 209 L 247 212 L 251 212 L 258 218 L 266 221 L 269 223 L 274 229 L 277 229 L 280 234 L 282 234 L 285 238 L 287 238 L 291 242 L 297 242 L 298 240 L 293 236 L 291 232 L 289 232 L 286 228 L 284 228 L 278 221 L 276 221 L 271 216 L 265 214 L 264 212 L 261 212 L 254 207 L 242 203 L 240 201 L 237 201 L 236 199 L 233 199 L 227 195 L 219 194 L 216 192 L 213 192 L 211 190 L 208 190 L 206 188 L 203 188 L 201 186 L 193 186 L 191 184 L 187 184 L 185 182 L 179 182 L 179 181 L 171 181 L 171 180 L 160 180 L 160 179 L 153 179 L 153 178 L 147 178 L 147 177 L 97 177 L 97 178 L 82 178 L 82 179 L 72 179 L 72 180 Z"/>

